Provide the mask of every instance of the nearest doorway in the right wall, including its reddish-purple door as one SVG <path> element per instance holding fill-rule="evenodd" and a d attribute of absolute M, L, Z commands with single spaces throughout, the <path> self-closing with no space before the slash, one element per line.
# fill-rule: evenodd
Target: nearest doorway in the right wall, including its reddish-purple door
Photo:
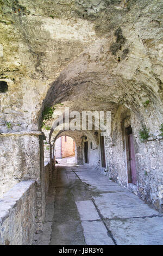
<path fill-rule="evenodd" d="M 136 161 L 134 151 L 134 138 L 131 126 L 126 129 L 127 135 L 127 158 L 129 161 L 128 182 L 136 185 Z"/>

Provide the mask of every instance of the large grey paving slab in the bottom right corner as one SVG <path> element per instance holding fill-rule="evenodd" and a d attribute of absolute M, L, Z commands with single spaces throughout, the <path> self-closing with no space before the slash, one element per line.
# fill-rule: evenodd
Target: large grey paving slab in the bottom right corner
<path fill-rule="evenodd" d="M 117 245 L 163 245 L 163 217 L 105 220 Z"/>

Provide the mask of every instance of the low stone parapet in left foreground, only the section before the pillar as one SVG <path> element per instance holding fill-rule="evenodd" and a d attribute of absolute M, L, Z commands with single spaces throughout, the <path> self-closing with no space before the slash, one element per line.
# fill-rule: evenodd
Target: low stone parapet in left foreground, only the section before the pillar
<path fill-rule="evenodd" d="M 35 180 L 21 181 L 0 199 L 0 245 L 31 245 L 35 229 Z"/>

